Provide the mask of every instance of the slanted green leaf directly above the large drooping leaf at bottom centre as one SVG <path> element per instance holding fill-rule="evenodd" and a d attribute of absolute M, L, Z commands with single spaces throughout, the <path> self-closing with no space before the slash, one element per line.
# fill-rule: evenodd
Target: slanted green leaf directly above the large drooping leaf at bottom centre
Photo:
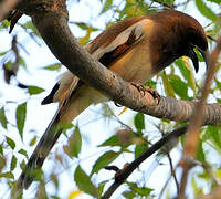
<path fill-rule="evenodd" d="M 115 153 L 113 150 L 104 153 L 94 164 L 91 176 L 94 172 L 98 172 L 102 168 L 106 167 L 109 165 L 112 161 L 114 161 L 120 153 Z"/>

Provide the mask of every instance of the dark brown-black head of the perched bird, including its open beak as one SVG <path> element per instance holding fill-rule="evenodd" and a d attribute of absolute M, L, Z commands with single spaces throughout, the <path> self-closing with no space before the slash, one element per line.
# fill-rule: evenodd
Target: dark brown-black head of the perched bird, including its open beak
<path fill-rule="evenodd" d="M 198 72 L 199 62 L 194 49 L 202 54 L 208 63 L 207 35 L 196 19 L 175 10 L 157 12 L 150 19 L 156 23 L 155 34 L 151 36 L 151 52 L 155 52 L 151 53 L 151 60 L 157 71 L 186 55 L 192 60 Z"/>

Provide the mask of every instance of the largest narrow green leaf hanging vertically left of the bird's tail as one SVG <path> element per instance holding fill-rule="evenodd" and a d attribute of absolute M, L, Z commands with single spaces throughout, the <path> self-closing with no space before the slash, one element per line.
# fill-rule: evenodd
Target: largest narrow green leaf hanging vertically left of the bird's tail
<path fill-rule="evenodd" d="M 24 128 L 25 118 L 27 118 L 27 102 L 23 104 L 20 104 L 17 108 L 17 126 L 18 126 L 21 139 L 23 139 L 23 128 Z"/>

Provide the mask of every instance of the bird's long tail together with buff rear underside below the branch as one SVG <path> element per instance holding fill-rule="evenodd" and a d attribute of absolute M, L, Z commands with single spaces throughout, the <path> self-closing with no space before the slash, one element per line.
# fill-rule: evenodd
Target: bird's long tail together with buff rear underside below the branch
<path fill-rule="evenodd" d="M 44 159 L 59 139 L 65 125 L 71 123 L 91 104 L 96 104 L 107 100 L 104 95 L 90 86 L 81 86 L 77 92 L 78 93 L 75 93 L 75 95 L 70 98 L 67 97 L 67 100 L 59 107 L 19 177 L 17 190 L 21 191 L 23 188 L 28 189 L 36 176 L 41 174 L 40 171 Z"/>

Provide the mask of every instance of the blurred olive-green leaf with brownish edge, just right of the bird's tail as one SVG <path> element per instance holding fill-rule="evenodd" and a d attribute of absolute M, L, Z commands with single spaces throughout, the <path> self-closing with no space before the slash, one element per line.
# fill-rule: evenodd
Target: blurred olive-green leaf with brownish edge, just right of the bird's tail
<path fill-rule="evenodd" d="M 78 126 L 69 139 L 67 146 L 64 146 L 64 151 L 72 158 L 77 157 L 82 148 L 82 136 Z"/>

